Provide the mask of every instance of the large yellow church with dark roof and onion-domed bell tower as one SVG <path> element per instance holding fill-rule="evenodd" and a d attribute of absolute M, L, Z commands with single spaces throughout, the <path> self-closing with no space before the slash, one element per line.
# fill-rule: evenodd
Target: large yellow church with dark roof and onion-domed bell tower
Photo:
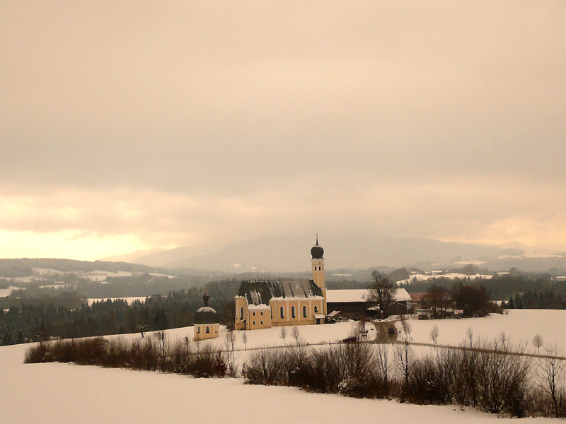
<path fill-rule="evenodd" d="M 236 298 L 236 330 L 324 324 L 324 249 L 311 249 L 312 280 L 242 281 Z"/>

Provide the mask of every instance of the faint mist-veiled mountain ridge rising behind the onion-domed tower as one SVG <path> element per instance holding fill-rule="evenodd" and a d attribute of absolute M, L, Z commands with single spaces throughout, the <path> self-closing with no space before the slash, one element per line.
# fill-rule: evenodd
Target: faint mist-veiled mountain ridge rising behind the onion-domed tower
<path fill-rule="evenodd" d="M 301 272 L 310 269 L 313 235 L 261 237 L 220 247 L 214 252 L 199 254 L 198 247 L 175 249 L 141 255 L 129 260 L 164 268 L 211 269 L 233 272 Z M 373 266 L 462 266 L 477 263 L 493 271 L 510 267 L 525 271 L 546 271 L 551 267 L 566 268 L 563 257 L 540 257 L 546 254 L 518 242 L 501 246 L 442 242 L 426 237 L 358 236 L 320 238 L 325 249 L 327 269 L 368 269 Z M 122 257 L 105 258 L 116 260 Z M 519 265 L 519 266 L 517 266 Z M 548 266 L 547 266 L 548 265 Z"/>

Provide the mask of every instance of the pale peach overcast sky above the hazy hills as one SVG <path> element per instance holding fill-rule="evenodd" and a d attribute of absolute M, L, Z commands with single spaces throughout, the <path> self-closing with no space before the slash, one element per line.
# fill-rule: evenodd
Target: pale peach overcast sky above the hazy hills
<path fill-rule="evenodd" d="M 1 1 L 0 257 L 566 250 L 565 1 Z"/>

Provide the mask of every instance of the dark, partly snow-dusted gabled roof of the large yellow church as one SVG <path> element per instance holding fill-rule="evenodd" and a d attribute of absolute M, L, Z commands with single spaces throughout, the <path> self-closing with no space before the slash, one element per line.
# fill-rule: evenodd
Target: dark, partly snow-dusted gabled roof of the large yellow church
<path fill-rule="evenodd" d="M 312 280 L 242 281 L 238 296 L 248 305 L 269 305 L 272 299 L 322 298 L 323 292 Z"/>

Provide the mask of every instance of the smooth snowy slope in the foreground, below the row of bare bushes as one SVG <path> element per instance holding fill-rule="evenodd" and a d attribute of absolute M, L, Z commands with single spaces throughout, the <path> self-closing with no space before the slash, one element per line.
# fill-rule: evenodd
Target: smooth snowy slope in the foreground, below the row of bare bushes
<path fill-rule="evenodd" d="M 265 417 L 273 424 L 362 423 L 380 417 L 392 423 L 501 423 L 497 416 L 454 406 L 309 394 L 290 387 L 248 386 L 241 379 L 194 379 L 58 363 L 23 365 L 25 348 L 0 348 L 2 423 L 260 423 Z M 14 384 L 8 389 L 5 382 Z"/>

